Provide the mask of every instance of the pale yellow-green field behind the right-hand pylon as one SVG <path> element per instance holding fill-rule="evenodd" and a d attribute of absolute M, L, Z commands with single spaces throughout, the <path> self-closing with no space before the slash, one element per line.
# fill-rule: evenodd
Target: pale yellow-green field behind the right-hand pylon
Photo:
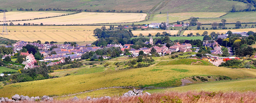
<path fill-rule="evenodd" d="M 183 13 L 169 13 L 169 23 L 187 20 L 190 17 L 196 18 L 217 18 L 226 13 L 224 12 L 183 12 Z M 167 14 L 155 14 L 150 17 L 150 20 L 145 22 L 136 22 L 134 24 L 150 24 L 155 22 L 166 22 Z M 184 22 L 186 23 L 186 22 Z"/>

